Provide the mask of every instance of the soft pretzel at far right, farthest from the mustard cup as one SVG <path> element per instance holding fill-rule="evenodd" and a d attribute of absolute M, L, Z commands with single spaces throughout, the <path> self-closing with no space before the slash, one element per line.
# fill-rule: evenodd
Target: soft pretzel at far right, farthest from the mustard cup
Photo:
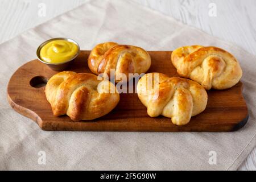
<path fill-rule="evenodd" d="M 217 47 L 180 47 L 172 52 L 171 60 L 180 76 L 199 82 L 207 90 L 231 88 L 242 77 L 236 58 Z"/>

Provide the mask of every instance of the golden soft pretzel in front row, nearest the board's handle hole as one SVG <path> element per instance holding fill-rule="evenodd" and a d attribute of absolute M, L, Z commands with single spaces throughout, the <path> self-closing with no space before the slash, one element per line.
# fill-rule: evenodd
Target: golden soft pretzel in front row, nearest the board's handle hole
<path fill-rule="evenodd" d="M 67 114 L 73 121 L 101 117 L 119 102 L 115 86 L 90 73 L 57 73 L 47 82 L 45 93 L 53 115 Z"/>

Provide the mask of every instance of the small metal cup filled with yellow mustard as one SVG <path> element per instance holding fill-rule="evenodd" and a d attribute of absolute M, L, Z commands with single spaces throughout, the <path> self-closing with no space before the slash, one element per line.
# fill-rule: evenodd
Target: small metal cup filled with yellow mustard
<path fill-rule="evenodd" d="M 64 71 L 79 55 L 80 47 L 75 40 L 54 38 L 42 43 L 36 55 L 38 60 L 47 64 L 54 71 Z"/>

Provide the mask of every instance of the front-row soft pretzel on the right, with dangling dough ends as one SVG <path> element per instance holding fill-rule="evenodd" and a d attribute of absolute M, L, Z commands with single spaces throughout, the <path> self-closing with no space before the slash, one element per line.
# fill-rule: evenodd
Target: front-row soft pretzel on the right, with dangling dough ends
<path fill-rule="evenodd" d="M 207 92 L 195 81 L 148 73 L 137 85 L 139 100 L 150 117 L 163 115 L 175 125 L 186 125 L 207 106 Z"/>

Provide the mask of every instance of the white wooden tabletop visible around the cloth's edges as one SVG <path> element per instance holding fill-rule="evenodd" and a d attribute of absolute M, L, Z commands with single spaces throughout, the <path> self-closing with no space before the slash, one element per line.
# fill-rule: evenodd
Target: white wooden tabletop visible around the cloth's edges
<path fill-rule="evenodd" d="M 0 43 L 87 0 L 0 0 Z M 133 0 L 256 55 L 255 0 Z M 38 16 L 40 3 L 46 16 Z M 215 11 L 216 10 L 216 11 Z M 209 15 L 210 14 L 210 15 Z M 240 170 L 256 170 L 256 148 Z"/>

